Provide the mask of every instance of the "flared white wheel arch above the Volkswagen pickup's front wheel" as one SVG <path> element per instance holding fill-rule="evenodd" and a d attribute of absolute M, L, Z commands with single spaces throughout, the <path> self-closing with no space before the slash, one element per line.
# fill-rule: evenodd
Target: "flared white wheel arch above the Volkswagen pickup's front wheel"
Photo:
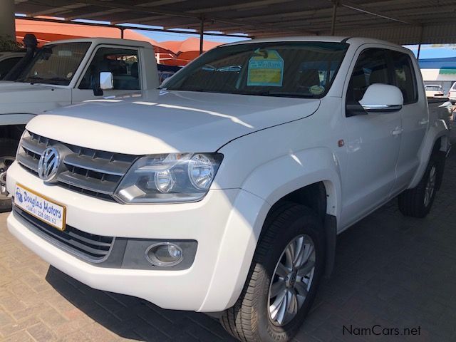
<path fill-rule="evenodd" d="M 267 182 L 267 186 L 265 186 Z M 276 158 L 255 169 L 242 189 L 273 205 L 282 197 L 306 185 L 323 182 L 326 213 L 338 217 L 341 211 L 341 171 L 336 155 L 327 147 L 314 147 Z"/>

